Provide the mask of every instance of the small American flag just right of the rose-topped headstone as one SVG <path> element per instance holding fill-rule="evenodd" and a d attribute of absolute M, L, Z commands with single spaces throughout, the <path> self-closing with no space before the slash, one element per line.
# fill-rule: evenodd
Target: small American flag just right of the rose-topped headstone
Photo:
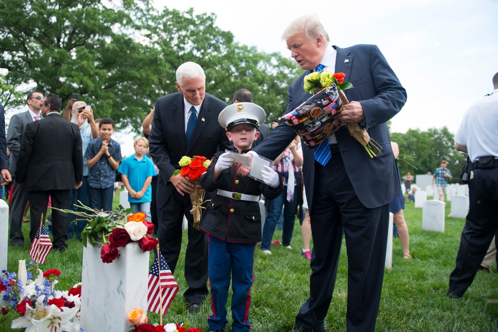
<path fill-rule="evenodd" d="M 159 263 L 161 270 L 159 273 Z M 162 293 L 162 313 L 161 313 L 161 299 L 159 294 L 159 285 Z M 158 256 L 154 259 L 152 267 L 149 271 L 149 284 L 147 292 L 147 307 L 148 311 L 152 311 L 159 315 L 165 315 L 168 312 L 169 305 L 175 298 L 178 292 L 178 284 L 169 269 L 168 263 L 159 252 Z"/>

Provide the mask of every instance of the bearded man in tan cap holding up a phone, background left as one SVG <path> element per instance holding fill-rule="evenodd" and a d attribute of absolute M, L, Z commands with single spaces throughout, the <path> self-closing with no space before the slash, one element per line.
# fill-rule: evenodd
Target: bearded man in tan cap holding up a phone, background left
<path fill-rule="evenodd" d="M 72 107 L 71 107 L 72 105 Z M 71 118 L 69 117 L 69 109 L 71 110 Z M 71 99 L 64 110 L 63 118 L 66 120 L 70 120 L 72 123 L 76 123 L 80 128 L 80 135 L 83 144 L 83 154 L 87 150 L 88 143 L 91 140 L 99 137 L 99 129 L 95 123 L 95 119 L 93 116 L 93 111 L 90 105 L 87 105 L 83 101 L 76 101 L 76 99 Z M 89 206 L 89 197 L 88 197 L 88 167 L 87 167 L 87 158 L 83 158 L 83 182 L 80 188 L 71 189 L 71 210 L 74 209 L 73 204 L 77 204 L 80 201 L 82 204 Z M 78 221 L 75 224 L 71 224 L 74 220 L 74 215 L 69 216 L 68 220 L 68 231 L 67 236 L 71 238 L 76 233 L 76 237 L 81 240 L 81 231 L 85 227 L 84 221 Z"/>

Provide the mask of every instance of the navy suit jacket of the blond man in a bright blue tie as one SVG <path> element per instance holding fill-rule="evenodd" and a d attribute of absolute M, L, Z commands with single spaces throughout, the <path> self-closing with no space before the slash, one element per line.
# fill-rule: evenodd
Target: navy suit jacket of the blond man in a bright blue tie
<path fill-rule="evenodd" d="M 387 120 L 397 114 L 406 102 L 406 91 L 375 45 L 355 45 L 337 50 L 336 73 L 346 73 L 346 81 L 354 89 L 346 90 L 348 100 L 362 104 L 366 127 L 370 136 L 383 148 L 382 153 L 371 159 L 363 146 L 351 137 L 347 128 L 336 132 L 337 143 L 355 193 L 367 208 L 386 205 L 399 195 L 399 180 L 390 145 Z M 347 60 L 347 62 L 346 62 Z M 309 94 L 304 93 L 303 79 L 311 71 L 304 72 L 289 86 L 287 112 L 294 110 Z M 253 151 L 275 159 L 295 137 L 295 132 L 286 124 L 273 129 L 265 140 Z M 303 147 L 304 186 L 310 214 L 313 207 L 315 183 L 313 150 Z"/>

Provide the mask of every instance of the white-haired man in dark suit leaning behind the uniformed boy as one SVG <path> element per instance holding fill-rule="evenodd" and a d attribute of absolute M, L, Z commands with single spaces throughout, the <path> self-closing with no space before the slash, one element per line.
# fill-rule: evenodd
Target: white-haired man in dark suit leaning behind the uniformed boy
<path fill-rule="evenodd" d="M 199 310 L 208 295 L 207 237 L 194 228 L 190 210 L 190 193 L 194 185 L 180 174 L 183 156 L 213 155 L 232 147 L 218 115 L 227 106 L 218 98 L 206 94 L 206 76 L 201 66 L 186 62 L 176 70 L 177 93 L 159 98 L 155 104 L 154 122 L 149 134 L 150 156 L 159 168 L 157 180 L 157 210 L 159 248 L 171 272 L 175 271 L 182 244 L 182 222 L 188 220 L 188 245 L 185 254 L 184 293 L 189 312 Z M 206 199 L 210 199 L 206 193 Z M 214 196 L 214 195 L 212 195 Z"/>

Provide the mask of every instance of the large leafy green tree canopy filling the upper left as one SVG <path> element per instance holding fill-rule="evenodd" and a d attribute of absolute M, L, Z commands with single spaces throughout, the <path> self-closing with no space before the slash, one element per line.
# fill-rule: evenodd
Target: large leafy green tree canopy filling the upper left
<path fill-rule="evenodd" d="M 177 92 L 176 68 L 193 61 L 204 68 L 207 93 L 231 102 L 246 88 L 266 122 L 282 115 L 298 66 L 235 42 L 215 21 L 215 14 L 193 9 L 156 10 L 148 0 L 3 0 L 0 97 L 20 105 L 22 98 L 4 87 L 27 93 L 28 84 L 64 104 L 78 93 L 96 117 L 138 130 L 157 98 Z"/>

